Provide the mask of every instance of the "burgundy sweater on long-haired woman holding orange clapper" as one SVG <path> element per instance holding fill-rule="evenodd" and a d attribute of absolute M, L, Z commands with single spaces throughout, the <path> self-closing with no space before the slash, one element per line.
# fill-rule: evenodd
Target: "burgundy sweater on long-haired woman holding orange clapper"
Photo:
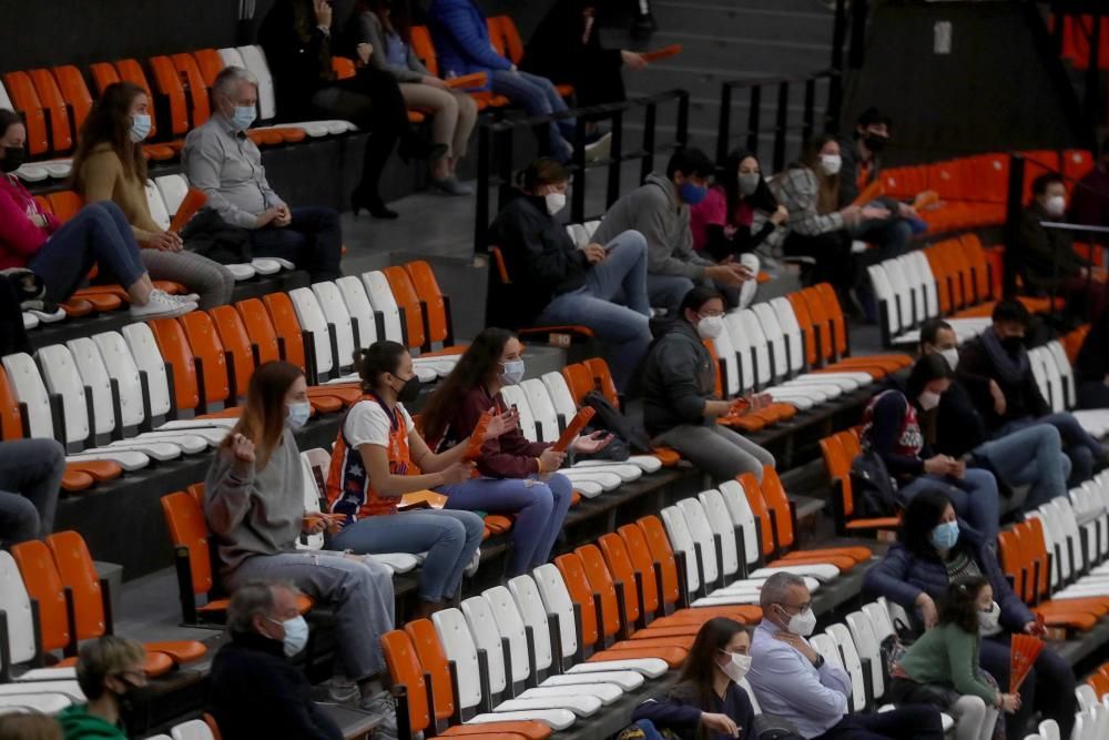
<path fill-rule="evenodd" d="M 477 426 L 481 414 L 494 406 L 501 410 L 507 409 L 499 393 L 494 398 L 482 386 L 470 389 L 462 396 L 454 414 L 447 418 L 447 428 L 435 448 L 450 449 L 459 443 L 465 443 Z M 526 478 L 539 473 L 536 458 L 548 447 L 549 444 L 528 442 L 519 428 L 506 432 L 497 439 L 487 442 L 481 448 L 478 473 L 491 478 Z"/>

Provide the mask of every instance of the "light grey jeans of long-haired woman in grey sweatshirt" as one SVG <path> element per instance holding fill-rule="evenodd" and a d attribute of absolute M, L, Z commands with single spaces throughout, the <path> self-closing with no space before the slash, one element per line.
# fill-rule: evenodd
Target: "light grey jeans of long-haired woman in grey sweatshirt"
<path fill-rule="evenodd" d="M 251 580 L 291 580 L 335 609 L 346 677 L 362 681 L 385 669 L 381 636 L 393 629 L 393 574 L 369 558 L 340 553 L 255 555 L 225 576 L 228 590 Z"/>

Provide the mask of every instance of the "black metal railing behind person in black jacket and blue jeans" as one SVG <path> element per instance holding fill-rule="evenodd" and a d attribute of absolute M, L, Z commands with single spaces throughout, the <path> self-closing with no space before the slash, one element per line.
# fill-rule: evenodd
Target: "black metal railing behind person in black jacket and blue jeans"
<path fill-rule="evenodd" d="M 657 129 L 659 124 L 659 107 L 667 103 L 674 103 L 675 131 L 673 144 L 660 146 L 658 143 Z M 643 109 L 643 138 L 639 149 L 624 151 L 624 140 L 627 132 L 624 124 L 627 114 L 631 111 Z M 599 123 L 608 121 L 612 133 L 612 145 L 607 159 L 593 162 L 586 161 L 586 149 L 582 145 L 574 146 L 573 160 L 569 164 L 571 189 L 570 189 L 570 220 L 573 223 L 581 223 L 590 219 L 599 219 L 600 214 L 586 214 L 586 173 L 589 170 L 607 170 L 608 182 L 606 187 L 606 210 L 615 203 L 620 197 L 621 169 L 625 162 L 640 162 L 640 180 L 650 174 L 654 169 L 654 156 L 660 150 L 674 150 L 684 146 L 689 140 L 689 118 L 690 118 L 690 94 L 685 90 L 669 90 L 653 95 L 632 98 L 618 103 L 606 103 L 590 108 L 579 108 L 550 115 L 537 115 L 532 118 L 502 119 L 500 121 L 484 122 L 478 130 L 478 186 L 477 186 L 477 215 L 474 224 L 474 251 L 485 253 L 489 246 L 489 221 L 491 197 L 489 190 L 497 187 L 497 210 L 499 211 L 509 199 L 513 185 L 513 175 L 519 169 L 515 161 L 516 132 L 520 129 L 533 132 L 540 142 L 540 152 L 549 153 L 547 128 L 552 121 L 573 118 L 574 141 L 586 140 L 586 126 L 588 123 Z"/>

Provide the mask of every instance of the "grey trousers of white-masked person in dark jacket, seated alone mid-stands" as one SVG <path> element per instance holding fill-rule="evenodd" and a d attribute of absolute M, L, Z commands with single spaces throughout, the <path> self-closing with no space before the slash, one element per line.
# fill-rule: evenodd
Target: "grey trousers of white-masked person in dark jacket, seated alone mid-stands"
<path fill-rule="evenodd" d="M 709 474 L 714 483 L 753 473 L 762 483 L 764 465 L 774 467 L 774 456 L 719 424 L 682 424 L 654 437 L 655 445 L 672 447 L 693 467 Z"/>

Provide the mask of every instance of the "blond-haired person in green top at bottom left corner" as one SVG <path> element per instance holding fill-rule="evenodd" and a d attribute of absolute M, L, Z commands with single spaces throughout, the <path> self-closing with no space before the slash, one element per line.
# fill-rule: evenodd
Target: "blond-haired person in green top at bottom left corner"
<path fill-rule="evenodd" d="M 145 660 L 143 647 L 124 637 L 106 635 L 82 645 L 77 682 L 89 703 L 58 716 L 65 740 L 126 740 L 132 692 L 146 686 Z"/>

